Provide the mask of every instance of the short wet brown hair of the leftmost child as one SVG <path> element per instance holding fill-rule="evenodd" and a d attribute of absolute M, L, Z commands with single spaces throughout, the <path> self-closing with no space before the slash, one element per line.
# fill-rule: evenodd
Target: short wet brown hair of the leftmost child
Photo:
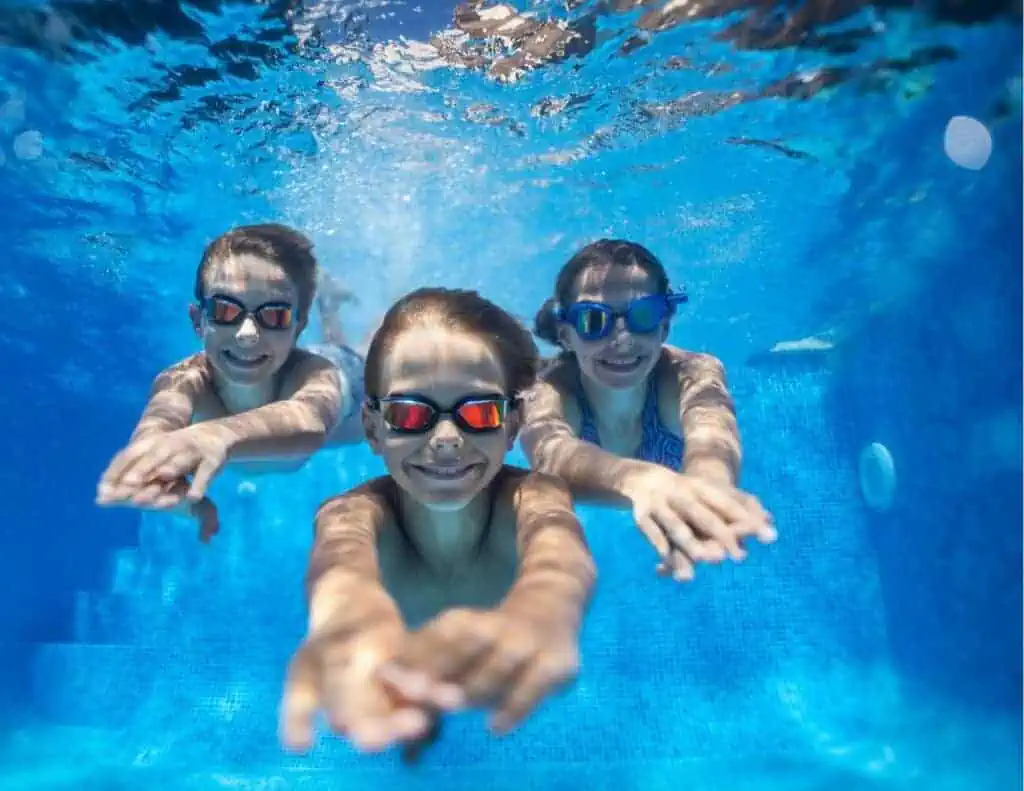
<path fill-rule="evenodd" d="M 309 315 L 316 294 L 316 257 L 313 243 L 288 225 L 267 222 L 260 225 L 240 225 L 214 239 L 196 270 L 196 299 L 206 295 L 206 272 L 214 261 L 230 255 L 249 253 L 272 261 L 285 270 L 299 292 L 300 317 Z"/>

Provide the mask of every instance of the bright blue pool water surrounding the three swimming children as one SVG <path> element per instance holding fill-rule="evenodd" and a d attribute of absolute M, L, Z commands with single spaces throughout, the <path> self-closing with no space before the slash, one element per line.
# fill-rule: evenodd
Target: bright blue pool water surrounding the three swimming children
<path fill-rule="evenodd" d="M 527 5 L 586 46 L 512 80 L 500 42 L 429 44 L 464 43 L 443 3 L 2 6 L 0 787 L 1020 785 L 1019 16 L 864 4 L 791 41 L 816 4 L 657 31 L 668 6 Z M 962 116 L 987 158 L 949 142 Z M 210 546 L 91 501 L 194 350 L 203 245 L 264 220 L 359 293 L 355 336 L 428 284 L 528 320 L 581 244 L 649 246 L 690 295 L 670 341 L 727 366 L 778 543 L 678 585 L 583 508 L 584 669 L 520 732 L 453 718 L 415 767 L 284 754 L 312 514 L 379 460 L 225 473 Z"/>

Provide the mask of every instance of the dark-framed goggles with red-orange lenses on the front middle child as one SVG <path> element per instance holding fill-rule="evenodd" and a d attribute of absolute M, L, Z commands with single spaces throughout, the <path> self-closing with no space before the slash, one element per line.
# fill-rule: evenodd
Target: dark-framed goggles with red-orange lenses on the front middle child
<path fill-rule="evenodd" d="M 467 396 L 456 402 L 452 409 L 441 409 L 423 396 L 387 396 L 370 398 L 370 409 L 380 412 L 387 427 L 395 433 L 423 434 L 451 415 L 459 428 L 469 433 L 497 431 L 508 417 L 514 400 L 505 396 Z"/>

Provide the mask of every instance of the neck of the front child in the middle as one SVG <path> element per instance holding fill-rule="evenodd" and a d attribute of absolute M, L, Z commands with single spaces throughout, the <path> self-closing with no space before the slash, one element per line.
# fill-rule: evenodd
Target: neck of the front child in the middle
<path fill-rule="evenodd" d="M 490 527 L 490 489 L 487 486 L 453 511 L 433 510 L 399 491 L 402 532 L 427 568 L 438 576 L 457 574 L 475 556 Z"/>

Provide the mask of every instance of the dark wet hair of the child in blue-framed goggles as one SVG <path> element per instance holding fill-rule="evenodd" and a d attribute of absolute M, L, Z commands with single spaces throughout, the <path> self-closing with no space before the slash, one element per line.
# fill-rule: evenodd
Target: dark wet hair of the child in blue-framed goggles
<path fill-rule="evenodd" d="M 580 276 L 595 266 L 639 266 L 654 281 L 654 293 L 669 293 L 669 275 L 665 265 L 650 250 L 623 239 L 599 239 L 579 250 L 558 273 L 555 295 L 544 300 L 534 319 L 534 333 L 537 337 L 559 345 L 558 308 L 572 302 Z"/>

